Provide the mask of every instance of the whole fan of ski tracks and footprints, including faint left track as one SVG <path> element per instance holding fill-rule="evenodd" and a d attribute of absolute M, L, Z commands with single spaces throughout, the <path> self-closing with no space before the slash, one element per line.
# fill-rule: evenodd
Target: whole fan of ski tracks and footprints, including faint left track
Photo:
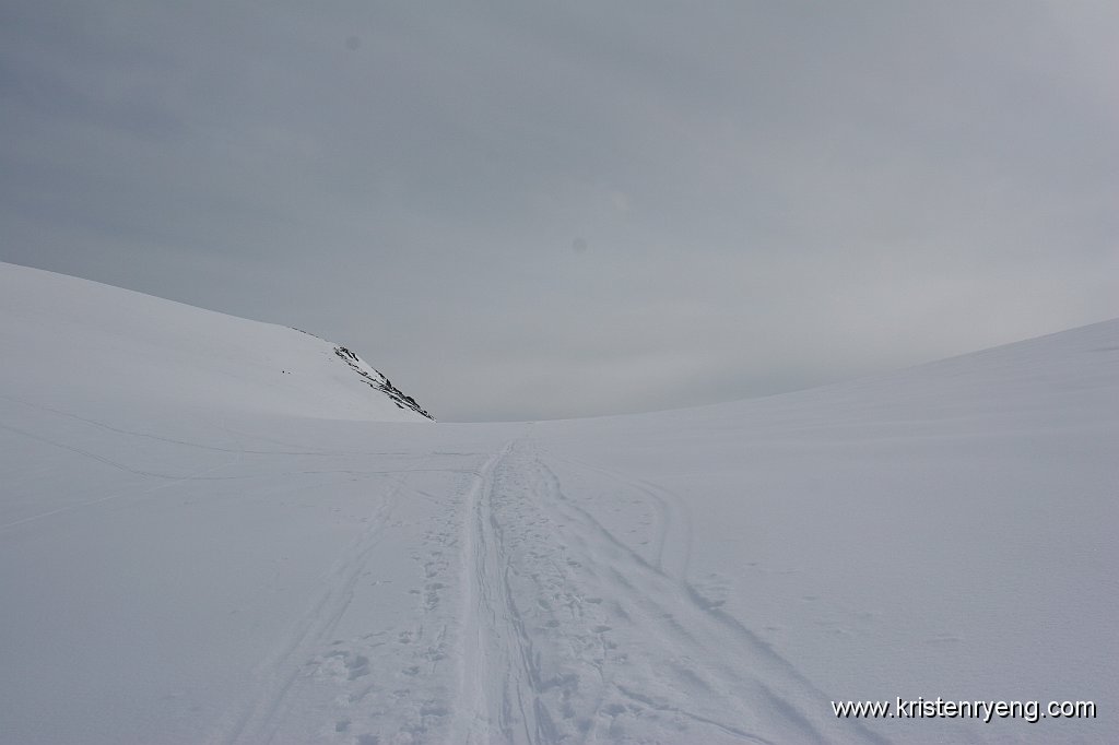
<path fill-rule="evenodd" d="M 565 492 L 530 440 L 474 458 L 477 468 L 416 471 L 454 487 L 411 557 L 422 567 L 414 622 L 335 639 L 405 472 L 261 666 L 256 702 L 211 742 L 828 742 L 824 694 L 686 581 L 679 499 L 565 461 L 648 501 L 657 525 L 645 556 Z"/>

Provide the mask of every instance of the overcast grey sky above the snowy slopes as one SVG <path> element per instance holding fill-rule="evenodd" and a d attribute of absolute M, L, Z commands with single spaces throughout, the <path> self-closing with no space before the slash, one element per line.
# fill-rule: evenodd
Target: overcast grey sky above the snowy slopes
<path fill-rule="evenodd" d="M 0 0 L 0 260 L 299 327 L 442 419 L 1119 315 L 1119 3 Z"/>

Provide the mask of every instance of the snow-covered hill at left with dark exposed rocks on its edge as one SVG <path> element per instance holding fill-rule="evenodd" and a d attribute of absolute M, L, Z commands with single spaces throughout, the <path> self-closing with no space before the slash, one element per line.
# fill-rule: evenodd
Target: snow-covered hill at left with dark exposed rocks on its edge
<path fill-rule="evenodd" d="M 0 387 L 21 400 L 49 396 L 130 407 L 149 402 L 326 419 L 432 418 L 339 349 L 295 329 L 0 263 Z"/>

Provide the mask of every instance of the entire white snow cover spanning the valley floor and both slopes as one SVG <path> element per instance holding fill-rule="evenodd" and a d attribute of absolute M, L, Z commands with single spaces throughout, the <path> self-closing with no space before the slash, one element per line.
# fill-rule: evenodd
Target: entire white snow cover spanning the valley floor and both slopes
<path fill-rule="evenodd" d="M 321 340 L 0 265 L 0 353 L 2 743 L 1119 742 L 1119 321 L 407 424 Z M 897 696 L 1099 716 L 830 705 Z"/>

